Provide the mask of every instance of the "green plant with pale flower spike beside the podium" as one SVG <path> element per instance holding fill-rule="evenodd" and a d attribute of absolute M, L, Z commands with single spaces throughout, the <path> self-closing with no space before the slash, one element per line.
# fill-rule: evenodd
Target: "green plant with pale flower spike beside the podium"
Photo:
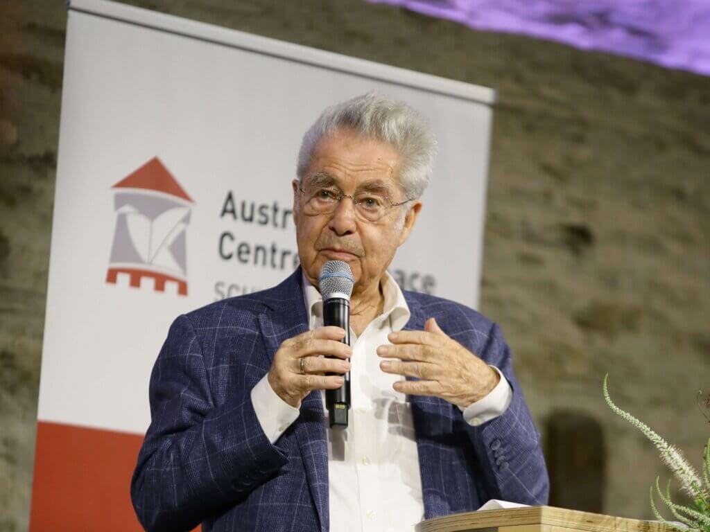
<path fill-rule="evenodd" d="M 661 460 L 673 473 L 673 476 L 678 480 L 682 490 L 690 497 L 693 501 L 692 505 L 677 504 L 672 501 L 670 497 L 670 480 L 666 484 L 665 492 L 661 490 L 660 480 L 656 478 L 656 493 L 661 499 L 663 504 L 665 504 L 668 509 L 670 509 L 674 518 L 684 523 L 690 528 L 697 528 L 703 532 L 710 532 L 710 439 L 707 445 L 705 445 L 703 452 L 703 470 L 702 477 L 698 475 L 697 471 L 694 470 L 692 465 L 684 458 L 680 450 L 674 445 L 670 445 L 666 440 L 661 438 L 657 433 L 651 430 L 651 428 L 645 423 L 639 421 L 634 416 L 626 411 L 620 409 L 609 397 L 609 390 L 606 386 L 606 380 L 608 374 L 604 377 L 603 393 L 606 404 L 615 413 L 626 419 L 633 426 L 638 428 L 644 433 L 646 438 L 651 440 L 653 445 L 660 451 Z M 677 531 L 687 532 L 687 528 L 682 528 L 670 523 L 660 514 L 658 511 L 654 496 L 653 487 L 650 488 L 650 501 L 651 509 L 656 519 L 661 523 L 674 528 Z"/>

